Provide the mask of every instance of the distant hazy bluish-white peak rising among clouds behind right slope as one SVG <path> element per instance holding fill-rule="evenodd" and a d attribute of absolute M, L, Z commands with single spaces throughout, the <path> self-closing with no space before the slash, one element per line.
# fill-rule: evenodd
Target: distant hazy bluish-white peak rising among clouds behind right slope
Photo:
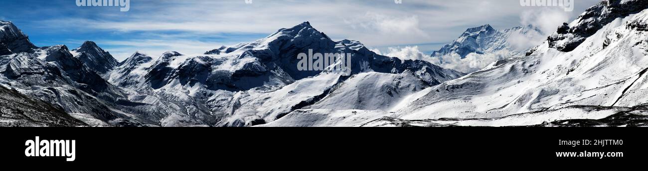
<path fill-rule="evenodd" d="M 511 45 L 511 37 L 537 36 L 542 31 L 534 26 L 517 26 L 505 30 L 495 30 L 491 25 L 469 28 L 452 43 L 443 46 L 440 50 L 432 52 L 432 57 L 457 54 L 465 58 L 471 53 L 487 54 L 507 50 L 507 54 L 518 55 L 527 49 Z"/>

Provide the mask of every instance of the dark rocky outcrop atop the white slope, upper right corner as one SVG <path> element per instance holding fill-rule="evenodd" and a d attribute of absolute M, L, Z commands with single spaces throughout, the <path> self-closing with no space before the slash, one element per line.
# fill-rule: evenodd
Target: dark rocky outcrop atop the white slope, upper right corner
<path fill-rule="evenodd" d="M 609 0 L 588 8 L 572 25 L 559 26 L 549 38 L 549 46 L 562 52 L 571 52 L 587 37 L 619 17 L 636 14 L 648 8 L 645 0 Z"/>

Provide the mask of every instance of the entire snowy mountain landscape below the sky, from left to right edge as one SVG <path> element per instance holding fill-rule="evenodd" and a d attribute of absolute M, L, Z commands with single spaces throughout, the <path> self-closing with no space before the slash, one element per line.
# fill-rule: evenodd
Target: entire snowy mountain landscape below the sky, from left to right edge
<path fill-rule="evenodd" d="M 0 103 L 10 108 L 1 112 L 19 111 L 0 123 L 647 126 L 647 9 L 643 0 L 602 1 L 528 51 L 509 40 L 539 32 L 531 26 L 470 28 L 433 56 L 512 52 L 470 74 L 333 41 L 308 22 L 201 55 L 135 52 L 118 63 L 91 41 L 36 47 L 2 21 Z M 309 50 L 351 54 L 351 68 L 299 70 L 297 54 Z"/>

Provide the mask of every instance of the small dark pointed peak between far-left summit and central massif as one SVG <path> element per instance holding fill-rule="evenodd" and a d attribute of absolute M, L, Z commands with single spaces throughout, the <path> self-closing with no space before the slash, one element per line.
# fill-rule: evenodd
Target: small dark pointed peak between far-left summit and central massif
<path fill-rule="evenodd" d="M 113 55 L 110 55 L 109 52 L 104 51 L 92 41 L 86 41 L 79 48 L 70 52 L 77 54 L 76 58 L 99 75 L 108 73 L 118 64 Z"/>

